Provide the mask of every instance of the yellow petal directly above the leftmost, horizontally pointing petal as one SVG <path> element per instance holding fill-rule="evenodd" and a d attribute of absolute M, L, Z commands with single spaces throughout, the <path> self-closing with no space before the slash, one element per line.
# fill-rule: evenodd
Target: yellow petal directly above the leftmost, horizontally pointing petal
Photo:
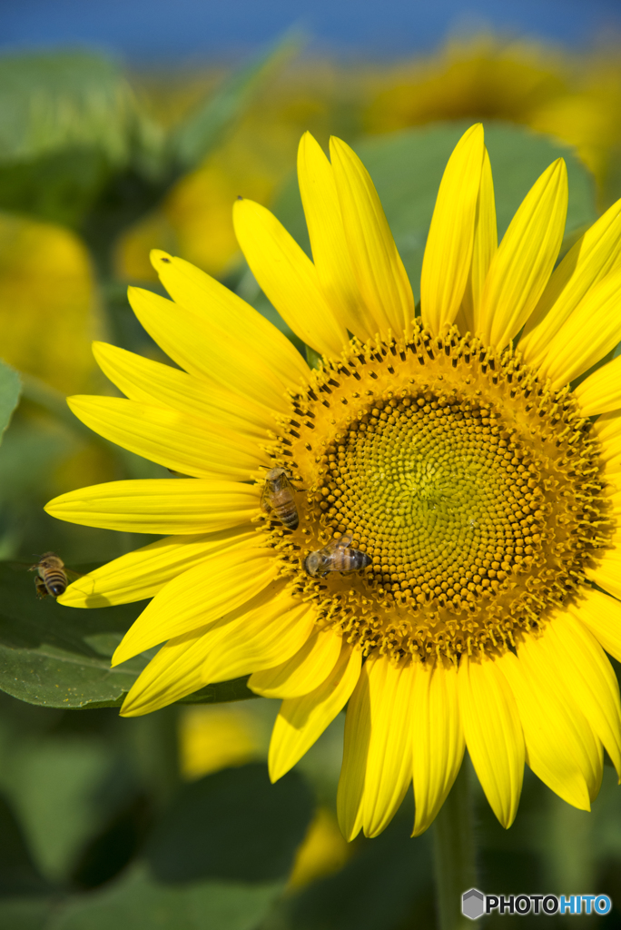
<path fill-rule="evenodd" d="M 247 481 L 270 458 L 257 442 L 219 424 L 125 397 L 68 397 L 75 416 L 112 443 L 173 472 Z"/>

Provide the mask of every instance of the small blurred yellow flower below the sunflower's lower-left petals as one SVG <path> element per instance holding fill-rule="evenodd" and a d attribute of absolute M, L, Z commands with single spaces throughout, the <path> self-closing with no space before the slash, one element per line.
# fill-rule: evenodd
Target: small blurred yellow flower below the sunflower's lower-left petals
<path fill-rule="evenodd" d="M 260 750 L 250 714 L 238 707 L 190 707 L 181 717 L 181 773 L 200 778 L 229 765 L 244 765 Z"/>

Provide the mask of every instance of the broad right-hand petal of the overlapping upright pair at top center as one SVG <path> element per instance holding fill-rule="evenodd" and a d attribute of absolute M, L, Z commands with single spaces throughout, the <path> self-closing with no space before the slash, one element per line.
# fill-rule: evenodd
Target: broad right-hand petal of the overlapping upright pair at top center
<path fill-rule="evenodd" d="M 383 336 L 390 329 L 400 339 L 403 330 L 408 335 L 412 331 L 414 297 L 377 191 L 349 145 L 333 137 L 330 155 L 351 267 L 364 305 Z"/>

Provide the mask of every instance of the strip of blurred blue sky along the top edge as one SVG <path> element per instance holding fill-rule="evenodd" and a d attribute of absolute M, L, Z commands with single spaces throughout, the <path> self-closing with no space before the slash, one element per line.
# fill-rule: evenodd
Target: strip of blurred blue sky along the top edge
<path fill-rule="evenodd" d="M 135 64 L 228 58 L 302 27 L 337 55 L 387 58 L 487 25 L 583 46 L 621 35 L 620 0 L 0 0 L 0 49 L 98 46 Z"/>

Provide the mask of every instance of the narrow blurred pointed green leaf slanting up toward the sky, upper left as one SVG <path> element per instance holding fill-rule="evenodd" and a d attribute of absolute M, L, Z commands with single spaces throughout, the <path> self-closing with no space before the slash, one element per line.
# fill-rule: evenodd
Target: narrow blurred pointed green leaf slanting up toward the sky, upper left
<path fill-rule="evenodd" d="M 197 165 L 222 140 L 268 76 L 297 51 L 299 42 L 286 36 L 275 47 L 231 74 L 170 138 L 170 152 L 181 170 Z"/>

